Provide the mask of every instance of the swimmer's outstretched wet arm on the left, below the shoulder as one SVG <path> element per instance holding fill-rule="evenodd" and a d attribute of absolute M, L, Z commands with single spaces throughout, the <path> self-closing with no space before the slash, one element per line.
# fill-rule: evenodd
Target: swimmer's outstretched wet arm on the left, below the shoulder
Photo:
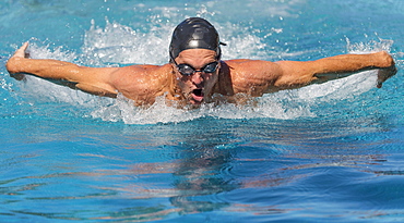
<path fill-rule="evenodd" d="M 117 67 L 85 67 L 73 63 L 57 60 L 37 60 L 26 58 L 25 50 L 28 42 L 17 49 L 5 66 L 10 75 L 16 79 L 23 79 L 23 74 L 31 74 L 47 79 L 68 82 L 68 86 L 74 86 L 83 91 L 115 97 L 116 89 L 109 84 L 109 76 Z"/>

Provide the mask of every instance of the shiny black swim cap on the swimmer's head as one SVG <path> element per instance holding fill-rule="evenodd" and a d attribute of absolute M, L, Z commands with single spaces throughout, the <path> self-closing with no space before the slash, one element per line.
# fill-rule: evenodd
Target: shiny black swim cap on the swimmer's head
<path fill-rule="evenodd" d="M 183 50 L 207 49 L 215 51 L 219 60 L 222 55 L 221 44 L 217 30 L 211 23 L 201 17 L 190 17 L 174 29 L 169 55 L 174 60 Z"/>

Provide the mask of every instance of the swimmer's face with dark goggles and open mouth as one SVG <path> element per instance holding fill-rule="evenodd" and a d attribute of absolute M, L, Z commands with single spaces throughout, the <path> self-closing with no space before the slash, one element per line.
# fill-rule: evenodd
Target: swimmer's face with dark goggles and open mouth
<path fill-rule="evenodd" d="M 183 71 L 191 71 L 189 72 L 190 75 L 183 75 L 178 71 L 177 65 L 173 64 L 177 85 L 182 91 L 183 97 L 192 104 L 201 104 L 210 96 L 213 86 L 217 82 L 221 64 L 217 63 L 217 69 L 209 73 L 209 71 L 216 67 L 215 62 L 218 62 L 216 60 L 216 52 L 206 49 L 183 50 L 175 61 Z M 197 72 L 192 73 L 193 70 Z"/>

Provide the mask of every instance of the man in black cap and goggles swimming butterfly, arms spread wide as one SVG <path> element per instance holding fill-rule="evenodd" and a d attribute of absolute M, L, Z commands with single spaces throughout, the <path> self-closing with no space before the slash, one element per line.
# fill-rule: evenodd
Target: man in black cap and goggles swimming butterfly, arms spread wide
<path fill-rule="evenodd" d="M 379 69 L 378 87 L 381 87 L 396 73 L 393 59 L 383 51 L 308 62 L 221 61 L 221 45 L 212 24 L 191 17 L 174 30 L 170 62 L 165 65 L 85 67 L 56 60 L 28 59 L 25 55 L 26 42 L 8 61 L 7 69 L 17 79 L 23 78 L 23 74 L 31 74 L 63 80 L 93 95 L 116 97 L 120 92 L 136 106 L 152 104 L 156 97 L 165 95 L 169 101 L 197 107 L 211 102 L 214 95 L 234 101 L 234 98 L 260 97 L 372 69 Z"/>

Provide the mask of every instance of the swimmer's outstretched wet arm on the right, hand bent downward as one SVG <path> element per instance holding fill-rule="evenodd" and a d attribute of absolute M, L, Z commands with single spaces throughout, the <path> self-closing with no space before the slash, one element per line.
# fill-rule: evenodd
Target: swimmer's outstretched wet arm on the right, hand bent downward
<path fill-rule="evenodd" d="M 282 89 L 324 83 L 346 77 L 354 72 L 372 69 L 380 69 L 377 86 L 381 87 L 385 79 L 396 73 L 394 60 L 384 51 L 369 54 L 342 54 L 308 62 L 281 61 L 276 63 L 282 74 L 274 85 Z"/>

